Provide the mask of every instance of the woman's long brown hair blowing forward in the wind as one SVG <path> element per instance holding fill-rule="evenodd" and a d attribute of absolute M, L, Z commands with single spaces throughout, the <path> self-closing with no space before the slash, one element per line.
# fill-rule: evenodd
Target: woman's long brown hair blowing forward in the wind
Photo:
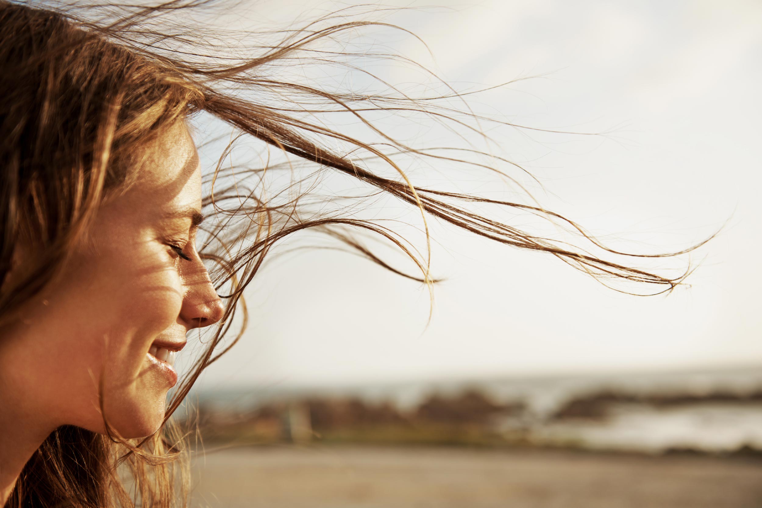
<path fill-rule="evenodd" d="M 191 34 L 181 23 L 172 23 L 181 11 L 208 4 L 171 0 L 150 7 L 70 4 L 43 9 L 0 0 L 0 323 L 18 320 L 23 305 L 55 280 L 101 203 L 130 186 L 141 154 L 174 123 L 208 114 L 236 129 L 237 139 L 258 140 L 284 154 L 278 164 L 223 166 L 231 142 L 207 177 L 210 193 L 203 204 L 217 220 L 207 226 L 200 254 L 213 264 L 210 275 L 226 299 L 226 312 L 191 373 L 178 385 L 164 429 L 146 439 L 128 440 L 111 432 L 61 427 L 27 463 L 6 506 L 187 504 L 182 434 L 169 417 L 200 372 L 241 337 L 242 292 L 265 256 L 287 235 L 310 228 L 394 273 L 430 288 L 436 282 L 429 248 L 421 254 L 382 222 L 347 212 L 341 203 L 349 196 L 317 201 L 338 203 L 333 212 L 315 206 L 302 191 L 288 199 L 267 197 L 258 184 L 268 171 L 335 171 L 352 178 L 365 189 L 361 195 L 388 196 L 417 209 L 427 242 L 427 219 L 436 219 L 512 247 L 550 254 L 604 283 L 623 280 L 655 289 L 646 293 L 669 292 L 689 272 L 685 267 L 666 276 L 618 259 L 674 257 L 693 247 L 668 254 L 627 254 L 536 203 L 416 186 L 402 160 L 408 165 L 427 161 L 442 168 L 495 171 L 507 178 L 506 168 L 518 167 L 469 147 L 416 147 L 372 120 L 379 112 L 399 117 L 415 113 L 465 136 L 482 135 L 479 123 L 497 120 L 469 110 L 466 94 L 448 88 L 436 96 L 410 97 L 392 85 L 383 93 L 347 91 L 287 80 L 279 73 L 283 65 L 305 62 L 350 69 L 355 64 L 347 57 L 360 55 L 347 52 L 346 46 L 334 52 L 324 44 L 386 24 L 357 21 L 339 12 L 278 32 L 277 44 L 247 45 L 249 40 L 239 37 L 243 42 L 231 48 L 216 33 Z M 400 56 L 374 56 L 404 61 Z M 367 69 L 357 70 L 386 86 Z M 450 100 L 460 101 L 461 107 Z M 334 113 L 353 117 L 368 136 L 360 139 L 326 126 L 323 120 Z M 302 181 L 294 177 L 291 187 Z M 491 219 L 469 209 L 469 203 L 531 214 L 575 232 L 580 242 L 575 246 L 564 238 Z M 372 251 L 362 240 L 364 233 L 379 235 L 401 249 L 417 273 L 406 273 Z M 34 257 L 18 260 L 18 245 L 27 246 Z M 125 471 L 129 481 L 124 481 Z"/>

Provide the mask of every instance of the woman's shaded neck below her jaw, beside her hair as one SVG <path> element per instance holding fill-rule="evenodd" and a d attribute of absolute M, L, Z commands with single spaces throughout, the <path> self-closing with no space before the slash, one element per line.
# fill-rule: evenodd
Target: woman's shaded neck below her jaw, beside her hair
<path fill-rule="evenodd" d="M 24 465 L 55 429 L 25 407 L 19 400 L 23 395 L 0 374 L 0 506 L 8 501 Z"/>

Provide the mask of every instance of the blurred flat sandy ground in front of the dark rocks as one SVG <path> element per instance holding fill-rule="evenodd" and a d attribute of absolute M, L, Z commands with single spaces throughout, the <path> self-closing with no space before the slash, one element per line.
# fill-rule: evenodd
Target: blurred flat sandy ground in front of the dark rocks
<path fill-rule="evenodd" d="M 249 448 L 194 468 L 199 508 L 762 508 L 759 460 Z"/>

